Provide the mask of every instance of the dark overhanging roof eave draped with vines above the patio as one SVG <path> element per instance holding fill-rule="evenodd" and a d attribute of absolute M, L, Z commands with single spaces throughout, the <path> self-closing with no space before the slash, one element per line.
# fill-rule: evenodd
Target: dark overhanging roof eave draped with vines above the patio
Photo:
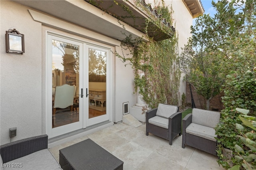
<path fill-rule="evenodd" d="M 89 2 L 90 4 L 96 6 L 97 8 L 100 8 L 101 10 L 107 12 L 108 14 L 111 14 L 112 16 L 118 18 L 118 20 L 121 20 L 122 22 L 125 22 L 126 24 L 132 26 L 133 28 L 136 28 L 140 32 L 143 32 L 146 34 L 146 20 L 148 20 L 150 17 L 155 17 L 159 20 L 161 20 L 161 24 L 163 26 L 169 27 L 170 32 L 166 33 L 164 30 L 158 28 L 156 24 L 150 22 L 150 26 L 154 28 L 148 29 L 147 33 L 148 36 L 153 37 L 155 41 L 161 41 L 168 38 L 172 38 L 175 32 L 175 28 L 170 25 L 170 23 L 166 22 L 166 20 L 162 19 L 159 14 L 157 14 L 156 10 L 153 10 L 152 7 L 145 3 L 144 0 L 140 0 L 140 3 L 142 6 L 146 7 L 147 12 L 149 12 L 150 15 L 147 14 L 146 11 L 143 11 L 142 9 L 139 9 L 135 4 L 131 3 L 130 1 L 124 1 L 124 0 L 85 0 L 86 2 Z M 122 6 L 125 6 L 128 9 L 123 9 Z"/>

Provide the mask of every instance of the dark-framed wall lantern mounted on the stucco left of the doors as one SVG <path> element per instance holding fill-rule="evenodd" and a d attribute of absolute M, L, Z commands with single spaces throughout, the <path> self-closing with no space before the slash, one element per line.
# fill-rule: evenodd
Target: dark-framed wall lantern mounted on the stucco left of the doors
<path fill-rule="evenodd" d="M 20 34 L 15 28 L 6 31 L 5 46 L 6 53 L 25 53 L 24 34 Z"/>

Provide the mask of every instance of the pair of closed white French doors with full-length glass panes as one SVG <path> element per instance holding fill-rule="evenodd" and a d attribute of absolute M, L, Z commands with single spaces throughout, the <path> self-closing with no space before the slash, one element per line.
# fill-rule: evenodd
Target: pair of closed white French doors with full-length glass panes
<path fill-rule="evenodd" d="M 46 41 L 49 138 L 108 121 L 110 49 L 50 32 Z"/>

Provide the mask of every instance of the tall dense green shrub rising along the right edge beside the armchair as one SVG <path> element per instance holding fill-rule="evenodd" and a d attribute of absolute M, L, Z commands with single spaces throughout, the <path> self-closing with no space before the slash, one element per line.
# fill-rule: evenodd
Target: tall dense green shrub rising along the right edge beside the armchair
<path fill-rule="evenodd" d="M 215 128 L 218 135 L 218 163 L 228 169 L 233 164 L 242 165 L 240 160 L 223 154 L 224 148 L 236 153 L 238 146 L 244 150 L 244 156 L 252 151 L 242 145 L 240 133 L 247 134 L 249 128 L 238 131 L 236 124 L 241 124 L 240 113 L 235 108 L 250 110 L 249 116 L 256 116 L 256 1 L 230 2 L 221 0 L 212 2 L 217 13 L 214 17 L 214 31 L 220 38 L 218 48 L 226 63 L 223 72 L 227 74 L 222 88 L 224 109 L 220 122 Z M 242 166 L 240 166 L 242 167 Z"/>

